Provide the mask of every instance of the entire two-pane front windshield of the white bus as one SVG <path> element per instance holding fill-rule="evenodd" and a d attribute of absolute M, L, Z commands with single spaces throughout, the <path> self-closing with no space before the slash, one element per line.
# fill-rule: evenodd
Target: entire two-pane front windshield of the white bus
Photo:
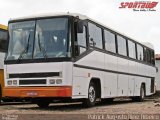
<path fill-rule="evenodd" d="M 68 18 L 9 24 L 7 60 L 70 57 Z"/>

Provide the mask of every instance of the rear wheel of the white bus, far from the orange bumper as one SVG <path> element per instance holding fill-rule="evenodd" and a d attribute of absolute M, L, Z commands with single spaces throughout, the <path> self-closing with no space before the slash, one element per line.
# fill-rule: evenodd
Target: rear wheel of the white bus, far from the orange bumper
<path fill-rule="evenodd" d="M 140 96 L 133 97 L 132 101 L 143 102 L 146 96 L 145 86 L 142 84 L 140 88 Z"/>

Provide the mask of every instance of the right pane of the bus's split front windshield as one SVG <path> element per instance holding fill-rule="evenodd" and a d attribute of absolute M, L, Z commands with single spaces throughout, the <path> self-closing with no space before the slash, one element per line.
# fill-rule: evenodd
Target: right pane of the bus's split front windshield
<path fill-rule="evenodd" d="M 68 19 L 37 20 L 34 58 L 68 57 Z"/>

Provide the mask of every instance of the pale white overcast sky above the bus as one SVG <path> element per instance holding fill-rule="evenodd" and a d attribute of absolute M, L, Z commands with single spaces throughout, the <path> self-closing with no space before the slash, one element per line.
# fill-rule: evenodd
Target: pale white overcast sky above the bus
<path fill-rule="evenodd" d="M 156 1 L 156 11 L 120 9 L 121 2 Z M 0 0 L 0 24 L 39 13 L 80 13 L 139 42 L 150 42 L 160 54 L 160 0 Z"/>

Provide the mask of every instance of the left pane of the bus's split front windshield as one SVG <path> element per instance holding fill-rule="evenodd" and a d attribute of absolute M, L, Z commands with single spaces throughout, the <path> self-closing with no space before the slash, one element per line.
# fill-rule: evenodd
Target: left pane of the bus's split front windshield
<path fill-rule="evenodd" d="M 9 24 L 9 45 L 7 60 L 16 60 L 20 56 L 31 59 L 33 49 L 35 21 Z"/>

